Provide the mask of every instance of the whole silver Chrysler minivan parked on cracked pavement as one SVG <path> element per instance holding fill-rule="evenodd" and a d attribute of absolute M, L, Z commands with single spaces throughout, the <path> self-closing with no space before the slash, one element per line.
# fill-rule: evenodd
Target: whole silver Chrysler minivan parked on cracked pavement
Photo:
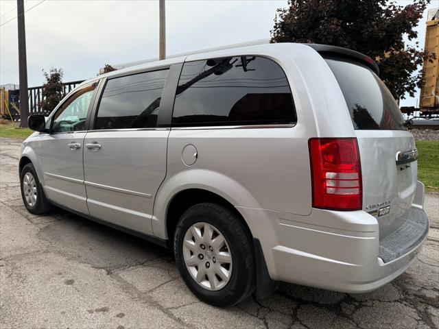
<path fill-rule="evenodd" d="M 371 291 L 427 236 L 414 138 L 377 64 L 348 49 L 148 62 L 82 83 L 29 127 L 29 212 L 56 205 L 174 249 L 216 306 L 281 281 Z"/>

